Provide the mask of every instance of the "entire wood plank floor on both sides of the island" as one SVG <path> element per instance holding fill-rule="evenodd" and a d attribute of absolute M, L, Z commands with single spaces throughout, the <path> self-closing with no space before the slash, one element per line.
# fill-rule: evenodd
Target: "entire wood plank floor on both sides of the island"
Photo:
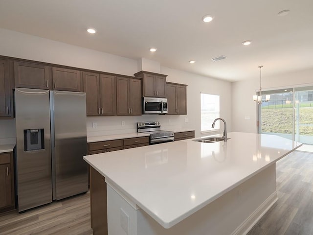
<path fill-rule="evenodd" d="M 276 164 L 278 201 L 248 235 L 313 235 L 313 154 Z M 0 214 L 0 235 L 92 235 L 89 193 L 19 214 Z"/>

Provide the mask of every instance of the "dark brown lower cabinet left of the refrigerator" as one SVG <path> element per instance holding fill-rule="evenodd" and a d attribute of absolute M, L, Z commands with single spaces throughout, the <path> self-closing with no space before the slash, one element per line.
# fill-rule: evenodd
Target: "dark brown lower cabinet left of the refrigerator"
<path fill-rule="evenodd" d="M 0 153 L 0 212 L 15 209 L 13 153 Z"/>

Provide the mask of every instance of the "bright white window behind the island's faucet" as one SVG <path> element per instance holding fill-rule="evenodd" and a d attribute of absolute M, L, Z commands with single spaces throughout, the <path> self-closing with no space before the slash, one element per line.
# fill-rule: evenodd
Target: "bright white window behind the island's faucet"
<path fill-rule="evenodd" d="M 220 118 L 220 95 L 201 93 L 201 132 L 220 129 L 220 122 L 212 123 Z"/>

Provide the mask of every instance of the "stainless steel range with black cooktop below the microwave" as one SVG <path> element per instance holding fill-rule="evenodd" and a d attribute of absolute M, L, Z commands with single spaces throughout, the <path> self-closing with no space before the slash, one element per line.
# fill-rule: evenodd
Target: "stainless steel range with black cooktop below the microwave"
<path fill-rule="evenodd" d="M 149 134 L 150 144 L 174 141 L 174 132 L 161 131 L 161 125 L 158 121 L 137 122 L 137 132 Z"/>

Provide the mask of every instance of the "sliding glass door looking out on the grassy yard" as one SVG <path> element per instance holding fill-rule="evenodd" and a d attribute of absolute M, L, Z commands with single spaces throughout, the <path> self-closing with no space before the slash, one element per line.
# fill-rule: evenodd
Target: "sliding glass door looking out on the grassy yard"
<path fill-rule="evenodd" d="M 259 105 L 259 133 L 313 144 L 313 86 L 266 91 Z"/>

